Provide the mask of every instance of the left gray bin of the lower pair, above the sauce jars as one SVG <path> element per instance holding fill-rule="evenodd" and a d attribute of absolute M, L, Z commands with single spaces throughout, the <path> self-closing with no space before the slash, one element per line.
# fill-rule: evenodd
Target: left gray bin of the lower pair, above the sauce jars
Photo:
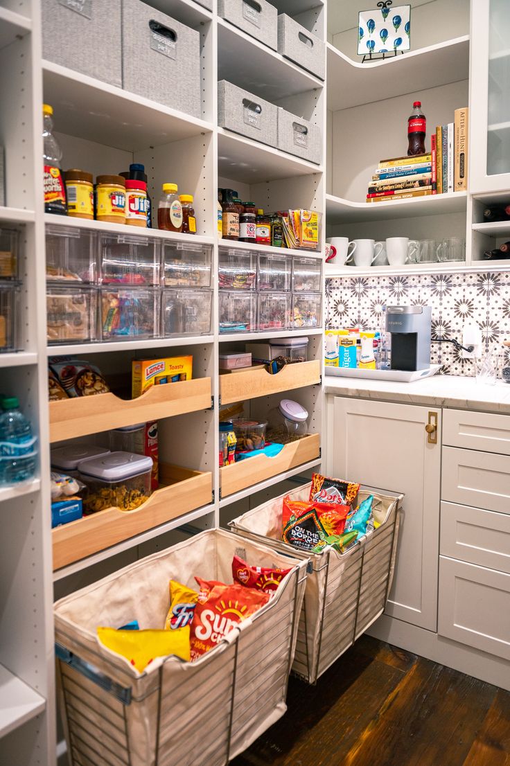
<path fill-rule="evenodd" d="M 255 141 L 276 146 L 278 106 L 221 80 L 218 83 L 218 124 Z"/>

